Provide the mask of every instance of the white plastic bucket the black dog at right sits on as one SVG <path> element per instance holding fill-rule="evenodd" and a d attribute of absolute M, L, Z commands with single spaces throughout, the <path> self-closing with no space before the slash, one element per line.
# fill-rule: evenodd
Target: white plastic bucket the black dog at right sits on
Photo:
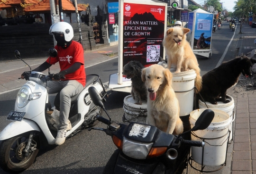
<path fill-rule="evenodd" d="M 234 102 L 233 97 L 231 97 L 230 95 L 227 95 L 227 97 L 228 97 L 227 99 L 229 99 L 229 103 L 223 103 L 222 101 L 218 101 L 218 105 L 213 105 L 208 101 L 206 101 L 205 103 L 207 104 L 208 108 L 218 109 L 218 110 L 222 110 L 224 112 L 227 112 L 230 116 L 231 121 L 232 121 L 235 117 L 235 114 L 233 116 L 233 109 L 235 107 L 235 102 Z M 198 103 L 199 103 L 199 108 L 207 108 L 205 106 L 205 103 L 203 101 L 201 101 L 200 99 L 199 99 Z M 230 124 L 229 130 L 231 130 L 231 133 L 230 133 L 230 136 L 229 136 L 229 141 L 230 141 L 233 138 L 233 125 L 232 124 Z"/>

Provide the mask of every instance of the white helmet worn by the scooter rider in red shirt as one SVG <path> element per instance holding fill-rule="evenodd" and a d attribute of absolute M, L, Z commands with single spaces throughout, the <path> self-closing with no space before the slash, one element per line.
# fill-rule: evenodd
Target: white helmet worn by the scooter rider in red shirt
<path fill-rule="evenodd" d="M 74 37 L 74 32 L 72 26 L 67 22 L 58 22 L 50 27 L 49 34 L 53 33 L 63 33 L 65 41 L 71 41 Z"/>

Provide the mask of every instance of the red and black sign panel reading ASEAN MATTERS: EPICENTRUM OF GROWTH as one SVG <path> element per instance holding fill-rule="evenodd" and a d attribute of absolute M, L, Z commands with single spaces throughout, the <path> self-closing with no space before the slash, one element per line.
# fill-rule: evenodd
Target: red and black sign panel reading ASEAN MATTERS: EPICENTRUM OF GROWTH
<path fill-rule="evenodd" d="M 123 66 L 137 60 L 144 66 L 163 58 L 165 6 L 124 3 Z"/>

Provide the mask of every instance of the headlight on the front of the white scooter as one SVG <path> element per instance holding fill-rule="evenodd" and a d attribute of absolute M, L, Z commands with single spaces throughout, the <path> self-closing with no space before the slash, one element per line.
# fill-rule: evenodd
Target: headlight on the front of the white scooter
<path fill-rule="evenodd" d="M 31 90 L 28 86 L 22 86 L 17 94 L 17 106 L 18 108 L 23 108 L 27 105 L 29 101 L 29 95 Z"/>

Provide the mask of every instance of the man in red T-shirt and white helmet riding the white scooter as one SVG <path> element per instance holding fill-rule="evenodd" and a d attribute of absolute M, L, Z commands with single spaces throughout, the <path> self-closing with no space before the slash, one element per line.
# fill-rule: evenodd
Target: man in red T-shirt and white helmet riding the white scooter
<path fill-rule="evenodd" d="M 83 48 L 79 42 L 72 41 L 73 28 L 66 22 L 55 23 L 51 26 L 49 33 L 53 34 L 57 41 L 55 49 L 58 54 L 55 58 L 49 57 L 46 62 L 32 71 L 42 72 L 59 62 L 61 70 L 52 76 L 53 81 L 47 83 L 47 91 L 49 94 L 60 91 L 60 124 L 57 126 L 55 144 L 61 145 L 66 138 L 71 97 L 80 93 L 85 86 Z M 27 72 L 24 72 L 21 78 L 26 78 L 26 75 Z"/>

